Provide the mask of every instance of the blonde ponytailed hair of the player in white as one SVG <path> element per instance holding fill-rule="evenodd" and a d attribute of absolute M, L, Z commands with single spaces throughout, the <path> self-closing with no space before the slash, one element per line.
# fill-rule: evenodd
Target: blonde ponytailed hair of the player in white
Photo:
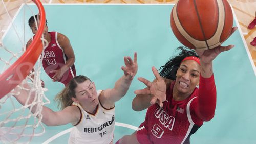
<path fill-rule="evenodd" d="M 73 104 L 72 98 L 76 98 L 75 88 L 78 84 L 86 80 L 90 79 L 82 75 L 76 76 L 72 80 L 70 80 L 68 85 L 63 90 L 61 90 L 54 99 L 54 101 L 58 102 L 58 108 L 62 110 L 68 106 L 71 106 Z"/>

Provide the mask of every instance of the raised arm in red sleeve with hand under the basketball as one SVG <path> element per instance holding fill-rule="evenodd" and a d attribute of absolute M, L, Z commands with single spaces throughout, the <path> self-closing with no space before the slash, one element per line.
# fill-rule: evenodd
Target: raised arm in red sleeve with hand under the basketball
<path fill-rule="evenodd" d="M 233 27 L 231 36 L 237 27 Z M 201 73 L 198 91 L 198 105 L 195 108 L 197 116 L 202 121 L 210 121 L 216 109 L 216 86 L 213 76 L 212 61 L 222 52 L 229 51 L 234 45 L 218 46 L 205 51 L 195 50 L 200 57 Z"/>

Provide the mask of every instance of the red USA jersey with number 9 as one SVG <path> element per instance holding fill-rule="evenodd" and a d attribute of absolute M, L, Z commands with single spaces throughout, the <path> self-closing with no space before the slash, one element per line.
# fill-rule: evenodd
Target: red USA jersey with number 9
<path fill-rule="evenodd" d="M 202 126 L 203 121 L 194 111 L 198 104 L 198 88 L 187 99 L 175 101 L 174 83 L 166 90 L 163 107 L 155 104 L 148 108 L 145 121 L 136 133 L 140 143 L 189 143 L 190 135 Z"/>

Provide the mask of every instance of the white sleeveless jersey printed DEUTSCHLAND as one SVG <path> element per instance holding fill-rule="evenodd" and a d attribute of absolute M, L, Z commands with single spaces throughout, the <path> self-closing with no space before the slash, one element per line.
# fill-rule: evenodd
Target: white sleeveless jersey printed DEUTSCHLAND
<path fill-rule="evenodd" d="M 98 97 L 102 90 L 97 90 Z M 73 103 L 74 104 L 74 103 Z M 109 144 L 114 138 L 115 107 L 104 108 L 100 101 L 95 115 L 86 112 L 79 104 L 81 119 L 71 130 L 69 143 L 106 143 Z"/>

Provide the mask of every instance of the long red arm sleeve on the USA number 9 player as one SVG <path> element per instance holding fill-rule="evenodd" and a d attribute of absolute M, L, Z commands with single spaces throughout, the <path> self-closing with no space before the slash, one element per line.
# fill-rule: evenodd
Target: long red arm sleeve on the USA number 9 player
<path fill-rule="evenodd" d="M 200 75 L 198 105 L 195 106 L 195 113 L 202 121 L 210 121 L 214 117 L 215 108 L 216 86 L 214 75 L 210 78 L 203 78 Z"/>

